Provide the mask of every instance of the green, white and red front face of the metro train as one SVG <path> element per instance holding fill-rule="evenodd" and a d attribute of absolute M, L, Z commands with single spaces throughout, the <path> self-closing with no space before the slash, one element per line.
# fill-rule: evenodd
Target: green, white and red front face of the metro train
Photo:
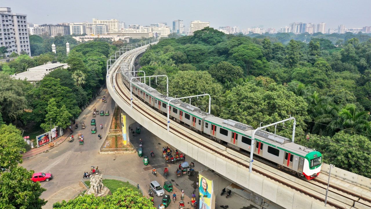
<path fill-rule="evenodd" d="M 312 151 L 305 155 L 303 175 L 311 180 L 321 172 L 322 154 L 318 151 Z"/>

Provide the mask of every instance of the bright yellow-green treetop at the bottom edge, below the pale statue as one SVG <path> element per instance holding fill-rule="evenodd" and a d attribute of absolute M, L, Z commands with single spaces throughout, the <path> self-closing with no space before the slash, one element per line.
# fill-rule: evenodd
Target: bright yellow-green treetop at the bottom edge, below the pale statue
<path fill-rule="evenodd" d="M 78 196 L 75 199 L 61 203 L 54 203 L 53 209 L 118 209 L 118 208 L 138 208 L 138 209 L 153 209 L 151 199 L 142 196 L 139 192 L 134 192 L 127 187 L 117 189 L 112 195 L 105 197 L 95 197 L 93 194 Z"/>

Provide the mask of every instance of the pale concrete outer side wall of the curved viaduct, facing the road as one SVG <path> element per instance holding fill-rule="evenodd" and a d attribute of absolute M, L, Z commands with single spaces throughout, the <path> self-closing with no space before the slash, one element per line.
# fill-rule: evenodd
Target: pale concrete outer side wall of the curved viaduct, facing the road
<path fill-rule="evenodd" d="M 141 50 L 142 51 L 142 50 Z M 138 55 L 141 53 L 138 52 Z M 111 75 L 111 74 L 110 74 Z M 178 135 L 168 132 L 166 128 L 157 123 L 152 122 L 140 112 L 130 107 L 119 97 L 112 87 L 111 79 L 107 79 L 107 89 L 111 94 L 112 99 L 120 106 L 131 118 L 136 120 L 144 128 L 151 131 L 153 134 L 164 140 L 171 146 L 181 150 L 185 155 L 194 158 L 196 161 L 214 170 L 221 176 L 229 179 L 246 189 L 255 192 L 270 201 L 288 209 L 321 209 L 324 208 L 324 203 L 315 200 L 307 195 L 301 194 L 289 187 L 278 184 L 266 177 L 249 173 L 249 169 L 237 164 L 233 161 L 214 154 L 209 149 L 198 147 L 188 139 L 180 138 Z M 134 105 L 133 105 L 134 106 Z M 245 161 L 244 163 L 247 164 Z M 332 208 L 327 206 L 326 209 Z"/>

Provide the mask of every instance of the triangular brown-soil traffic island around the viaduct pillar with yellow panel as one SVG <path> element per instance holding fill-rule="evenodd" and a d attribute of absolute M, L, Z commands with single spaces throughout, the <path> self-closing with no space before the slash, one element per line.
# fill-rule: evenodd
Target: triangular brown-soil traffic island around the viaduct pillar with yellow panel
<path fill-rule="evenodd" d="M 127 137 L 126 134 L 122 134 L 121 125 L 121 108 L 116 106 L 114 110 L 114 116 L 109 127 L 109 132 L 105 138 L 99 154 L 131 154 L 135 153 L 133 146 L 128 143 L 125 144 L 123 137 Z"/>

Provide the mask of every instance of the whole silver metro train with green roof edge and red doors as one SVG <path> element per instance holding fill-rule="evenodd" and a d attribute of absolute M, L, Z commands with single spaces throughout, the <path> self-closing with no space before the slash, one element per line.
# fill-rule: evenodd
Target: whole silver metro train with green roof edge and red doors
<path fill-rule="evenodd" d="M 122 73 L 124 85 L 130 89 L 131 73 Z M 231 148 L 249 152 L 252 126 L 231 120 L 222 119 L 201 111 L 200 108 L 184 103 L 174 97 L 167 97 L 156 89 L 132 79 L 132 92 L 140 100 L 158 112 L 167 114 L 167 103 L 170 102 L 170 118 L 188 128 L 207 135 L 219 143 L 226 142 Z M 267 131 L 257 131 L 255 134 L 255 155 L 273 162 L 279 169 L 290 171 L 299 177 L 311 180 L 321 171 L 322 155 L 313 149 L 293 143 L 290 139 Z"/>

